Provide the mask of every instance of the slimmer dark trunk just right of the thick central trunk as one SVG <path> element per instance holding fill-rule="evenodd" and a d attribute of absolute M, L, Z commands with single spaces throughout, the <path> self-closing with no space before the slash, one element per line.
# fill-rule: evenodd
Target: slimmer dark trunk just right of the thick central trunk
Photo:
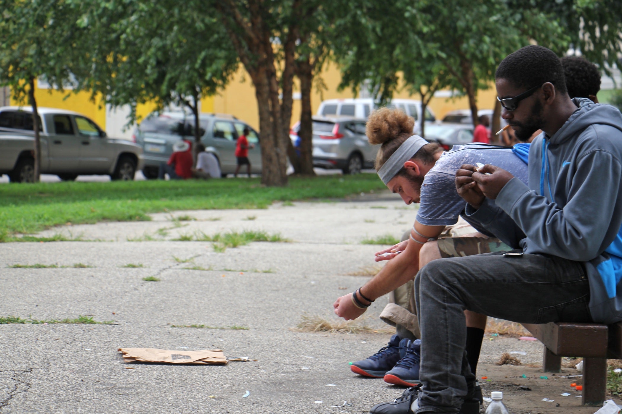
<path fill-rule="evenodd" d="M 309 57 L 299 62 L 298 78 L 300 79 L 300 174 L 314 176 L 313 171 L 313 119 L 311 109 L 311 89 L 313 84 L 313 68 Z"/>

